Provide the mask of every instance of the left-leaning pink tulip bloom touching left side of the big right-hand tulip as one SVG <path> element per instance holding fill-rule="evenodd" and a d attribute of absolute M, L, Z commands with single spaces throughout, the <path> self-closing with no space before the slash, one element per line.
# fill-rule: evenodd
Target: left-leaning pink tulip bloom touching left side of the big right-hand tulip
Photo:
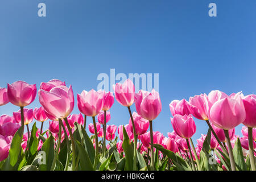
<path fill-rule="evenodd" d="M 205 121 L 208 120 L 205 95 L 200 94 L 199 96 L 190 97 L 189 110 L 195 118 Z"/>

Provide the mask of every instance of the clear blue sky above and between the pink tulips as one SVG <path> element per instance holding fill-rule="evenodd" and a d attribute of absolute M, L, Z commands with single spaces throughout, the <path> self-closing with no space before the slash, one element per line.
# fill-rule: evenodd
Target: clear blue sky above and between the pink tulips
<path fill-rule="evenodd" d="M 38 16 L 41 2 L 46 17 Z M 211 2 L 217 17 L 208 15 Z M 162 112 L 153 127 L 165 136 L 173 130 L 172 100 L 216 89 L 255 93 L 254 0 L 5 0 L 0 22 L 1 87 L 23 80 L 39 89 L 40 82 L 58 78 L 72 85 L 76 98 L 84 89 L 97 89 L 98 74 L 110 74 L 111 68 L 126 75 L 159 73 Z M 36 97 L 28 108 L 39 106 Z M 7 104 L 0 114 L 18 109 Z M 110 112 L 109 124 L 129 122 L 127 108 L 117 101 Z M 79 113 L 77 102 L 73 113 Z M 193 139 L 208 129 L 195 121 Z"/>

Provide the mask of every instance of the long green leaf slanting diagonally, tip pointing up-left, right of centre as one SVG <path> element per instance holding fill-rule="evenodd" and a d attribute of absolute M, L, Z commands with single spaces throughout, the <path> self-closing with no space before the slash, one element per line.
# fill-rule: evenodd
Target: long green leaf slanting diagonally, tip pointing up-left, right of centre
<path fill-rule="evenodd" d="M 175 164 L 178 171 L 192 171 L 188 163 L 185 162 L 185 160 L 181 159 L 179 155 L 176 155 L 174 154 L 174 152 L 165 149 L 160 144 L 154 144 L 154 147 L 159 151 L 163 152 L 164 155 L 167 155 L 168 158 L 170 158 L 172 162 Z"/>

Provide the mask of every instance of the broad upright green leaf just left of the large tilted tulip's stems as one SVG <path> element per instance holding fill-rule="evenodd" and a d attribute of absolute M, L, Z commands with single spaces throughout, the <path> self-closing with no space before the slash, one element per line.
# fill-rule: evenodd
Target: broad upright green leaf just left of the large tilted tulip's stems
<path fill-rule="evenodd" d="M 46 155 L 43 155 L 43 157 L 46 158 L 46 164 L 40 164 L 39 169 L 40 171 L 49 171 L 51 169 L 55 153 L 54 138 L 52 137 L 51 132 L 49 132 L 49 138 L 47 138 L 46 142 L 43 143 L 41 150 L 46 152 Z"/>

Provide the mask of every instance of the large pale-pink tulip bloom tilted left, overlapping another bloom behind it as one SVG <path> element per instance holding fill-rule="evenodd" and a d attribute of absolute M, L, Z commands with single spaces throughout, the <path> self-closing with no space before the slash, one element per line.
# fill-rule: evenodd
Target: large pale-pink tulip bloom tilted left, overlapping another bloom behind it
<path fill-rule="evenodd" d="M 39 90 L 39 102 L 50 115 L 63 119 L 68 117 L 74 108 L 72 86 L 55 86 L 49 92 Z"/>

